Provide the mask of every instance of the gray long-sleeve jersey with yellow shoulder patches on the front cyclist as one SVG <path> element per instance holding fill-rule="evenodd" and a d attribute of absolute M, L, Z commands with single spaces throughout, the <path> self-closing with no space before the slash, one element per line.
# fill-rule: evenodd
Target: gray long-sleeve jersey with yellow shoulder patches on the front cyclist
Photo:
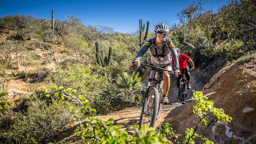
<path fill-rule="evenodd" d="M 140 52 L 137 54 L 135 60 L 140 60 L 141 57 L 145 54 L 145 52 L 147 52 L 148 48 L 150 49 L 150 52 L 152 54 L 151 62 L 154 65 L 158 67 L 164 67 L 169 63 L 171 63 L 172 57 L 173 57 L 173 60 L 174 60 L 173 65 L 175 70 L 180 70 L 178 53 L 169 37 L 167 36 L 165 37 L 163 44 L 160 46 L 160 48 L 156 47 L 156 38 L 155 37 L 150 38 L 148 42 L 140 49 Z M 172 57 L 170 52 L 172 52 Z M 164 59 L 161 60 L 161 63 L 158 60 L 159 56 L 164 57 Z"/>

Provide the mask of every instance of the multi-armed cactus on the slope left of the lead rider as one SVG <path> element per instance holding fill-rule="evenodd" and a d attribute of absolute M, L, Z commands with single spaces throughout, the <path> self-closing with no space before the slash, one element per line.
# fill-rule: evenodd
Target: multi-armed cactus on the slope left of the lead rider
<path fill-rule="evenodd" d="M 111 61 L 111 58 L 112 58 L 112 51 L 113 51 L 112 46 L 109 47 L 108 57 L 107 56 L 104 57 L 104 52 L 103 52 L 103 50 L 100 50 L 98 42 L 95 42 L 95 46 L 96 46 L 96 59 L 97 59 L 97 63 L 101 67 L 105 67 L 105 66 L 109 67 L 110 61 Z"/>

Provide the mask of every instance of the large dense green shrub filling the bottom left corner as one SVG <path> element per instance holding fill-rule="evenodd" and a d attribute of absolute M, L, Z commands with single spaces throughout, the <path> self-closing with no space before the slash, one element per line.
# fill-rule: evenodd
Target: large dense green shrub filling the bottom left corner
<path fill-rule="evenodd" d="M 32 96 L 26 105 L 28 108 L 25 115 L 10 113 L 3 118 L 3 126 L 10 129 L 2 129 L 2 141 L 44 143 L 72 121 L 72 113 L 69 111 L 72 104 L 68 101 L 52 99 L 51 103 L 47 103 L 46 99 Z"/>

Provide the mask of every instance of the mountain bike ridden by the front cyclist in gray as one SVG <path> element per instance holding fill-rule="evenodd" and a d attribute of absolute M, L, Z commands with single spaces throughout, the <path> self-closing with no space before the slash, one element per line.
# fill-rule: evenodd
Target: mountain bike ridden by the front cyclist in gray
<path fill-rule="evenodd" d="M 147 65 L 141 63 L 141 67 L 146 69 L 155 68 L 152 78 L 148 79 L 148 87 L 144 97 L 143 107 L 140 113 L 140 122 L 139 127 L 141 128 L 144 124 L 146 127 L 154 126 L 156 120 L 159 118 L 162 110 L 162 99 L 163 99 L 163 70 L 167 71 L 170 75 L 175 75 L 173 71 L 160 68 L 157 66 Z M 150 82 L 154 81 L 153 85 L 150 85 Z M 145 130 L 147 131 L 147 130 Z"/>

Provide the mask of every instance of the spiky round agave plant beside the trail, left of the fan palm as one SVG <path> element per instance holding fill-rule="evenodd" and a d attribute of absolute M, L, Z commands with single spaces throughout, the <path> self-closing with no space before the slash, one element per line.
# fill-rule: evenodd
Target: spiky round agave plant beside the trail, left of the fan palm
<path fill-rule="evenodd" d="M 123 99 L 123 94 L 116 84 L 106 84 L 102 86 L 100 98 L 105 102 L 110 103 L 118 110 L 122 110 L 127 107 L 126 102 Z"/>

